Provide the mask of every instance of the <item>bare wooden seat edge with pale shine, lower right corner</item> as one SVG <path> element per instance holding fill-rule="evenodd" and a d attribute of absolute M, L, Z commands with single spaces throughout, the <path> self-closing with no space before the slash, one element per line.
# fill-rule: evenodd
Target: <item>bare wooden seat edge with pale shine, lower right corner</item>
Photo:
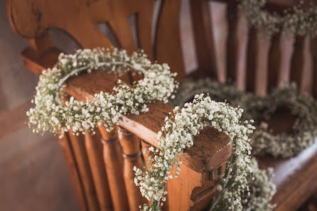
<path fill-rule="evenodd" d="M 317 189 L 317 142 L 291 159 L 259 158 L 261 168 L 274 168 L 276 211 L 296 210 Z"/>

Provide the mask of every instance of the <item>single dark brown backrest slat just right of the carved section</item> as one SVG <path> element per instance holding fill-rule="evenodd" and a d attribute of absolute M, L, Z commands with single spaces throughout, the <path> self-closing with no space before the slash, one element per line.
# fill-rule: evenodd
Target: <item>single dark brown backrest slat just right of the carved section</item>
<path fill-rule="evenodd" d="M 204 0 L 190 0 L 190 11 L 193 21 L 198 70 L 205 72 L 210 77 L 217 77 L 210 3 Z M 219 77 L 217 79 L 219 80 Z"/>

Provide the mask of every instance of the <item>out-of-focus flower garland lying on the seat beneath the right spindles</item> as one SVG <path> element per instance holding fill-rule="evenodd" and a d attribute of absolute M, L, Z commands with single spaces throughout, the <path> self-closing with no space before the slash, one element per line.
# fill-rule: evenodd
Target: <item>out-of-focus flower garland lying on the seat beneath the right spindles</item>
<path fill-rule="evenodd" d="M 276 88 L 266 97 L 257 97 L 210 79 L 188 80 L 178 91 L 180 94 L 170 102 L 174 106 L 181 106 L 193 94 L 210 92 L 213 99 L 226 99 L 230 105 L 242 107 L 242 119 L 254 119 L 258 125 L 251 136 L 254 154 L 289 158 L 311 146 L 317 136 L 317 102 L 309 94 L 299 94 L 294 84 Z M 288 108 L 297 117 L 291 134 L 273 134 L 268 128 L 267 119 L 280 108 Z"/>

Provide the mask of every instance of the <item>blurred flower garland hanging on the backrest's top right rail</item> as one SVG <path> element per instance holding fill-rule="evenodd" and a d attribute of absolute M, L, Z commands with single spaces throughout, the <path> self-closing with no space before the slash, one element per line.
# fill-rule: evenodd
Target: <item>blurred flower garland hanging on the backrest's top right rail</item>
<path fill-rule="evenodd" d="M 267 0 L 240 0 L 249 24 L 254 28 L 262 28 L 268 35 L 279 31 L 294 33 L 298 36 L 317 35 L 317 6 L 311 5 L 303 9 L 303 1 L 292 9 L 285 10 L 284 16 L 264 10 Z"/>

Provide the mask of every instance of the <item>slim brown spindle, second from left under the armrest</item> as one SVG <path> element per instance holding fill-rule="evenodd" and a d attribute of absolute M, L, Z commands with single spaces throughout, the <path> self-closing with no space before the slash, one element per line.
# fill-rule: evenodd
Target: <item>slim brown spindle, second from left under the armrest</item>
<path fill-rule="evenodd" d="M 100 207 L 97 201 L 97 194 L 95 191 L 95 185 L 92 180 L 92 173 L 90 170 L 89 161 L 87 159 L 87 153 L 85 151 L 85 140 L 82 135 L 76 136 L 69 133 L 70 144 L 72 146 L 75 160 L 78 166 L 78 171 L 80 172 L 80 178 L 82 181 L 82 186 L 85 190 L 87 205 L 90 211 L 99 211 Z"/>

